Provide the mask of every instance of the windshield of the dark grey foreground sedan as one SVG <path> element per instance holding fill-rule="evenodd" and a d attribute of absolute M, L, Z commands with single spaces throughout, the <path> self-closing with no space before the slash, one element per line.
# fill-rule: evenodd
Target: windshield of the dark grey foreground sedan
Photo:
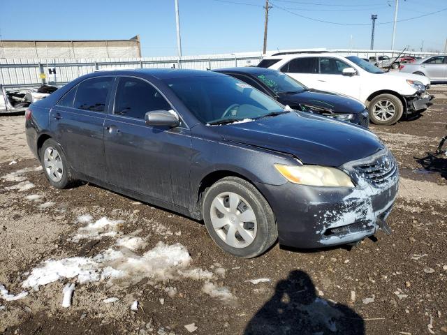
<path fill-rule="evenodd" d="M 284 112 L 284 107 L 249 84 L 226 75 L 163 80 L 204 124 L 249 121 Z"/>

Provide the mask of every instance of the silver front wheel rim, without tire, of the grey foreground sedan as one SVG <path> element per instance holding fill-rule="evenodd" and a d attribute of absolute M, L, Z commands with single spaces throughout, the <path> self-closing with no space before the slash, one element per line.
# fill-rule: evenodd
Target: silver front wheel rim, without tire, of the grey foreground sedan
<path fill-rule="evenodd" d="M 256 216 L 249 202 L 240 195 L 220 193 L 211 203 L 210 214 L 214 231 L 228 246 L 245 248 L 253 243 Z"/>

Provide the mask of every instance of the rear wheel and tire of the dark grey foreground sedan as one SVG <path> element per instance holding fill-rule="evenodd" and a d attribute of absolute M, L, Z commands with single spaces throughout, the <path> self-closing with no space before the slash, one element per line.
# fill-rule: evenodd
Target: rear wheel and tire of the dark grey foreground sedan
<path fill-rule="evenodd" d="M 48 182 L 54 188 L 68 188 L 74 179 L 61 146 L 51 138 L 43 142 L 39 154 Z"/>

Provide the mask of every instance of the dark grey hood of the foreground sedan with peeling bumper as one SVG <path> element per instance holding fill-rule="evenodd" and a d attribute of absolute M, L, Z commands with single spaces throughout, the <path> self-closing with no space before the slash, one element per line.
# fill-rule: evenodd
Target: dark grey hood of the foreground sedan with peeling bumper
<path fill-rule="evenodd" d="M 365 128 L 305 112 L 214 128 L 225 140 L 292 154 L 305 164 L 339 166 L 383 149 Z"/>

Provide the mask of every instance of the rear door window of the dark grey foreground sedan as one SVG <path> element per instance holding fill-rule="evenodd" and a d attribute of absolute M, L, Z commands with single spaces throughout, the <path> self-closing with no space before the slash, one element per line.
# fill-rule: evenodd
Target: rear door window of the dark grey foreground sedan
<path fill-rule="evenodd" d="M 74 107 L 80 110 L 104 112 L 113 77 L 97 77 L 84 80 L 78 85 Z"/>

